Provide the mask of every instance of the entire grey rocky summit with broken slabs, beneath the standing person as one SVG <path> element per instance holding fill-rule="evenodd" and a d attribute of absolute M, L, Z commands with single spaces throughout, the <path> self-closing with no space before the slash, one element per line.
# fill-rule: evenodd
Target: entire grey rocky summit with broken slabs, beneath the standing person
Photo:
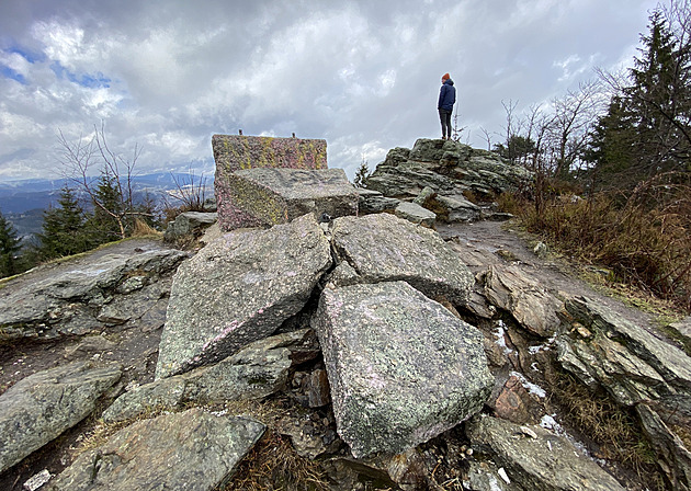
<path fill-rule="evenodd" d="M 691 490 L 689 318 L 496 221 L 528 171 L 213 146 L 217 215 L 0 282 L 0 489 Z"/>

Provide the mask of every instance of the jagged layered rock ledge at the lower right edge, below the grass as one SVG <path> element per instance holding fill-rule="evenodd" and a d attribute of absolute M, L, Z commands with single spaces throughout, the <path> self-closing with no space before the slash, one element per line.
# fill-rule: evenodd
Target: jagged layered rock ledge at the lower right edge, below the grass
<path fill-rule="evenodd" d="M 634 407 L 673 489 L 691 489 L 691 358 L 586 297 L 566 301 L 557 361 L 589 387 Z"/>

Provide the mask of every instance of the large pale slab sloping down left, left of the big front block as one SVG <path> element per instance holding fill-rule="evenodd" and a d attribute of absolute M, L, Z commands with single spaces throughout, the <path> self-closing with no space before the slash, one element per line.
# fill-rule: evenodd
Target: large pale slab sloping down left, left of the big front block
<path fill-rule="evenodd" d="M 173 278 L 156 378 L 217 363 L 272 334 L 330 265 L 329 241 L 311 214 L 209 243 Z"/>

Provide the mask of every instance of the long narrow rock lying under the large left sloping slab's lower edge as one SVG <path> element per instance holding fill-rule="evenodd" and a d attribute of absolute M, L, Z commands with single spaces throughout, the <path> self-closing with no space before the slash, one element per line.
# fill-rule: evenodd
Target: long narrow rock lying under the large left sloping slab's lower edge
<path fill-rule="evenodd" d="M 139 386 L 118 397 L 103 413 L 103 421 L 115 423 L 188 403 L 269 397 L 285 388 L 293 347 L 307 336 L 308 331 L 302 330 L 265 338 L 215 365 Z"/>

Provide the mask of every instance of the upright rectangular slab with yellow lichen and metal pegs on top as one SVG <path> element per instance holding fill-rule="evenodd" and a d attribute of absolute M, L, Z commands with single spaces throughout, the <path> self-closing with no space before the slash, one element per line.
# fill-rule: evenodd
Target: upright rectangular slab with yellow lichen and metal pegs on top
<path fill-rule="evenodd" d="M 327 169 L 327 144 L 322 139 L 272 138 L 242 135 L 212 137 L 216 176 L 215 194 L 222 230 L 259 225 L 251 215 L 236 206 L 228 182 L 242 169 Z"/>

